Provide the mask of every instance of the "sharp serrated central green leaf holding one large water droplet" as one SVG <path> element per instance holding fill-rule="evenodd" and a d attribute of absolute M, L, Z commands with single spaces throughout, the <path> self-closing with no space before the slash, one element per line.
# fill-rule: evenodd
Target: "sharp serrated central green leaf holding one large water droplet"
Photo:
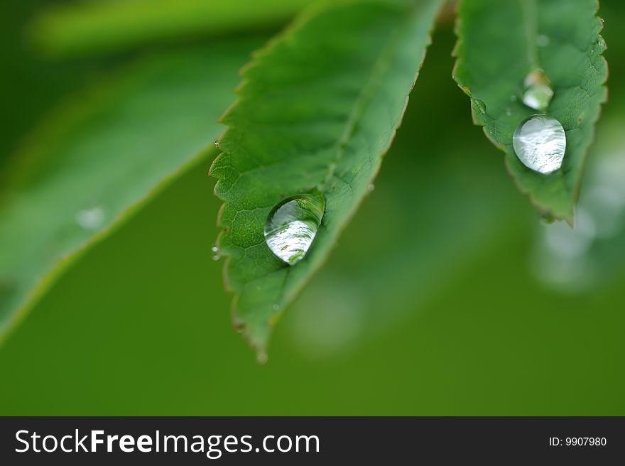
<path fill-rule="evenodd" d="M 335 245 L 391 145 L 429 43 L 435 0 L 335 2 L 306 11 L 244 71 L 211 173 L 226 201 L 218 245 L 234 324 L 264 357 L 271 326 Z M 263 224 L 283 197 L 315 188 L 325 215 L 287 266 Z M 372 220 L 374 221 L 374 220 Z"/>

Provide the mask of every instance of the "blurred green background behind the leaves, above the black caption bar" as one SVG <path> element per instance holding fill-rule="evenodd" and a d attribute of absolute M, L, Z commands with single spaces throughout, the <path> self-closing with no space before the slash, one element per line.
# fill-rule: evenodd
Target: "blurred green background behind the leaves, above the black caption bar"
<path fill-rule="evenodd" d="M 1 6 L 0 163 L 102 70 L 173 40 L 43 58 L 24 31 L 50 3 Z M 211 260 L 207 160 L 82 256 L 4 343 L 0 414 L 625 415 L 625 8 L 604 1 L 601 16 L 610 99 L 575 229 L 540 220 L 472 126 L 448 18 L 374 192 L 267 364 L 232 329 Z M 175 46 L 280 21 L 205 27 Z"/>

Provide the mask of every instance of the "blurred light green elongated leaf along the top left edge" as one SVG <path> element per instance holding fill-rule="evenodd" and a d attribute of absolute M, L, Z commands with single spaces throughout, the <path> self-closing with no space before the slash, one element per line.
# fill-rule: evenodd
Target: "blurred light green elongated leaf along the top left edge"
<path fill-rule="evenodd" d="M 258 31 L 287 21 L 310 1 L 80 1 L 44 9 L 28 33 L 46 55 L 118 52 L 155 41 Z"/>

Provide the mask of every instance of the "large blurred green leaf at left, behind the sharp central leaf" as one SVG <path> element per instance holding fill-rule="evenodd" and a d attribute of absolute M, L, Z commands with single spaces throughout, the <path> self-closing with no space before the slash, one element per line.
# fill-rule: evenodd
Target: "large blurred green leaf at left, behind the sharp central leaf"
<path fill-rule="evenodd" d="M 28 137 L 1 183 L 0 337 L 78 252 L 205 160 L 256 43 L 143 59 Z"/>

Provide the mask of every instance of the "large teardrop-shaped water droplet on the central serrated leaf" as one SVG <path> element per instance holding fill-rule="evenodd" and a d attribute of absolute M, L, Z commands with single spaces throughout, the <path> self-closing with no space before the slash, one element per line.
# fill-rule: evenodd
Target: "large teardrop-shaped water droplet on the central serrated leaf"
<path fill-rule="evenodd" d="M 287 197 L 271 209 L 265 224 L 267 246 L 289 265 L 302 260 L 315 239 L 325 210 L 321 193 Z"/>

